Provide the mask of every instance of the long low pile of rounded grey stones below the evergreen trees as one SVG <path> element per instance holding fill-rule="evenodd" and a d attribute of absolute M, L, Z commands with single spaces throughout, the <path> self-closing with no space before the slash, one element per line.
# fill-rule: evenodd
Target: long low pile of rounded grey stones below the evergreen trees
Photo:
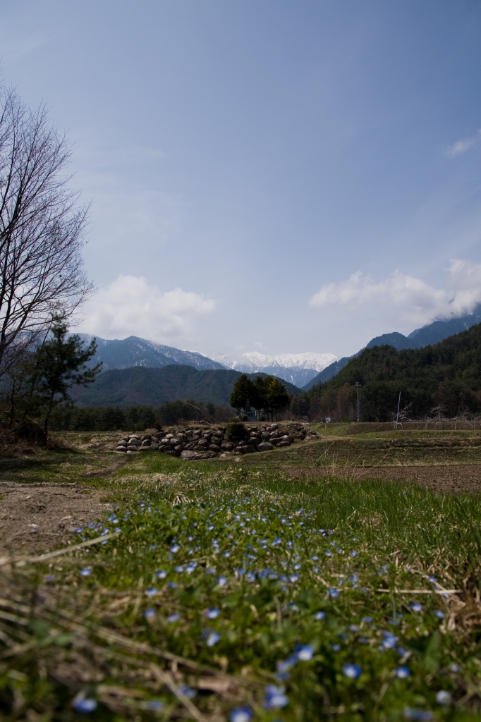
<path fill-rule="evenodd" d="M 319 438 L 316 431 L 306 425 L 277 424 L 255 425 L 246 428 L 246 436 L 233 442 L 226 435 L 226 427 L 203 426 L 191 429 L 172 428 L 147 433 L 142 436 L 124 436 L 117 445 L 117 451 L 161 451 L 184 459 L 211 458 L 220 454 L 244 454 L 271 451 L 274 446 L 290 446 L 292 443 Z"/>

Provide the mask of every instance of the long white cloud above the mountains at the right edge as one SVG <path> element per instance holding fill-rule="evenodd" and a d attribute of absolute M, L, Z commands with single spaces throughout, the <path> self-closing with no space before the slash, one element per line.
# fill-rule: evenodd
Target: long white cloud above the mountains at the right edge
<path fill-rule="evenodd" d="M 310 300 L 311 306 L 356 308 L 375 303 L 386 311 L 395 310 L 402 323 L 429 323 L 470 313 L 481 302 L 481 264 L 451 260 L 443 288 L 434 288 L 422 279 L 394 271 L 384 281 L 374 282 L 361 271 L 339 283 L 325 284 Z"/>

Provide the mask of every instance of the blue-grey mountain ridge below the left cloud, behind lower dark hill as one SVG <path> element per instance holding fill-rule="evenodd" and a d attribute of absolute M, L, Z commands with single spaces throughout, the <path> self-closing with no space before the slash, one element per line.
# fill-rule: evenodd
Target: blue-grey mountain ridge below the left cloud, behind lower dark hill
<path fill-rule="evenodd" d="M 225 369 L 222 363 L 202 356 L 196 351 L 181 351 L 172 346 L 155 344 L 138 336 L 129 336 L 128 339 L 100 339 L 99 336 L 78 334 L 82 341 L 90 344 L 93 338 L 97 341 L 97 354 L 92 358 L 91 365 L 103 361 L 103 372 L 114 368 L 131 368 L 143 366 L 145 368 L 162 368 L 172 364 L 193 366 L 199 371 Z"/>

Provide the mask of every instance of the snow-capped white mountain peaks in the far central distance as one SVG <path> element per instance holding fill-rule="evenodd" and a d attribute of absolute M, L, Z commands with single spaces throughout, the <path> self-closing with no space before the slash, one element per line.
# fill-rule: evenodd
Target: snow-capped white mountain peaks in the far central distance
<path fill-rule="evenodd" d="M 216 353 L 212 359 L 228 368 L 246 373 L 268 373 L 299 388 L 308 383 L 326 366 L 337 359 L 334 354 L 316 354 L 308 351 L 305 354 L 279 354 L 267 356 L 258 351 L 251 351 L 241 356 Z"/>

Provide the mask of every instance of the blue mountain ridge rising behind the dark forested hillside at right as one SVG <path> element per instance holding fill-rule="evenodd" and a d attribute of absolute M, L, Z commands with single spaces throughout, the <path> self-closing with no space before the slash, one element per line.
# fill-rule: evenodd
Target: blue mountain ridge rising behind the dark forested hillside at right
<path fill-rule="evenodd" d="M 391 334 L 382 334 L 382 336 L 376 336 L 365 346 L 366 349 L 372 349 L 375 346 L 394 346 L 397 351 L 401 349 L 422 349 L 425 346 L 433 346 L 438 344 L 449 336 L 459 334 L 461 331 L 466 331 L 477 323 L 481 323 L 481 303 L 478 304 L 472 313 L 467 313 L 466 316 L 460 318 L 449 318 L 446 321 L 433 321 L 428 323 L 427 326 L 423 326 L 421 329 L 412 331 L 409 336 L 403 336 L 397 331 Z M 326 366 L 321 373 L 316 375 L 314 378 L 303 386 L 303 391 L 308 391 L 312 386 L 317 386 L 318 383 L 325 383 L 329 379 L 334 378 L 339 371 L 347 365 L 351 359 L 358 357 L 364 349 L 360 349 L 357 354 L 352 356 L 345 356 L 337 361 L 334 361 L 331 365 Z"/>

